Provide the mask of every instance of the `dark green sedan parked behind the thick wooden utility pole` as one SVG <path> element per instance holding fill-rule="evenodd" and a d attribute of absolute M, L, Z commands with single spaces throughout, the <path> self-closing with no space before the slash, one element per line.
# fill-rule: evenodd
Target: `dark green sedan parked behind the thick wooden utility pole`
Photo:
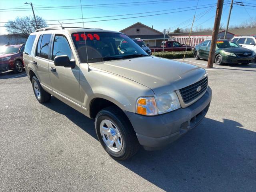
<path fill-rule="evenodd" d="M 195 46 L 193 49 L 194 58 L 196 60 L 208 59 L 211 41 L 207 40 Z M 252 50 L 240 47 L 232 40 L 217 40 L 215 51 L 215 63 L 221 64 L 249 64 L 255 57 Z"/>

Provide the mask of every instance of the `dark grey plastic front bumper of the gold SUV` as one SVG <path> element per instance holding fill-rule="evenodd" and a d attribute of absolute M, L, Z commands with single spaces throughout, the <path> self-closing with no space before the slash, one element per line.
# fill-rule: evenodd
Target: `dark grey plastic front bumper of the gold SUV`
<path fill-rule="evenodd" d="M 136 132 L 138 141 L 146 150 L 157 150 L 174 142 L 196 127 L 206 115 L 212 100 L 208 87 L 204 96 L 194 104 L 157 116 L 142 116 L 124 111 Z"/>

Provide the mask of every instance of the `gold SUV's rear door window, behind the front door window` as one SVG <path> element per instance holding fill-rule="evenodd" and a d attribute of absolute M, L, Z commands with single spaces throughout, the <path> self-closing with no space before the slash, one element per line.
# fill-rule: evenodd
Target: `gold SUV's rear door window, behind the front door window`
<path fill-rule="evenodd" d="M 42 39 L 40 36 L 37 46 L 37 56 L 45 59 L 49 58 L 51 36 L 52 34 L 44 34 Z"/>

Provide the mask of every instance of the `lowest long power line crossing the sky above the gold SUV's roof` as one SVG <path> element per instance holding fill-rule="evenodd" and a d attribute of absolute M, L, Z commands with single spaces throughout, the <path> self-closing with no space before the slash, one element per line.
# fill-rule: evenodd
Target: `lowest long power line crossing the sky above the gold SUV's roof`
<path fill-rule="evenodd" d="M 209 8 L 209 7 L 212 7 L 212 6 L 201 7 L 201 8 L 197 8 L 197 9 L 204 9 L 204 8 Z M 188 10 L 175 11 L 175 12 L 159 13 L 159 14 L 151 14 L 151 15 L 135 16 L 135 17 L 126 17 L 126 18 L 117 18 L 117 19 L 86 21 L 86 22 L 84 22 L 84 23 L 101 22 L 101 21 L 112 21 L 112 20 L 123 20 L 123 19 L 131 19 L 131 18 L 141 18 L 141 17 L 157 16 L 157 15 L 171 14 L 171 13 L 184 12 L 184 11 L 191 11 L 191 10 L 196 10 L 196 9 L 194 8 L 194 9 L 188 9 Z M 63 23 L 63 24 L 79 24 L 79 23 L 83 23 L 83 22 L 73 22 L 73 23 Z M 48 24 L 48 25 L 58 25 L 58 24 Z M 28 25 L 28 26 L 31 26 L 31 25 Z M 0 26 L 0 27 L 5 27 L 5 26 Z M 17 26 L 17 27 L 18 27 L 18 26 Z"/>

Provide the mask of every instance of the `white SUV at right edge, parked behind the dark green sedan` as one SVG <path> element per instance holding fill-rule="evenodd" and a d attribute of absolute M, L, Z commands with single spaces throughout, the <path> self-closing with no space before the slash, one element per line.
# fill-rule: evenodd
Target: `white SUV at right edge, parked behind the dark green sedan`
<path fill-rule="evenodd" d="M 238 36 L 232 38 L 232 41 L 256 53 L 256 36 Z M 256 56 L 254 57 L 254 62 L 256 62 Z"/>

